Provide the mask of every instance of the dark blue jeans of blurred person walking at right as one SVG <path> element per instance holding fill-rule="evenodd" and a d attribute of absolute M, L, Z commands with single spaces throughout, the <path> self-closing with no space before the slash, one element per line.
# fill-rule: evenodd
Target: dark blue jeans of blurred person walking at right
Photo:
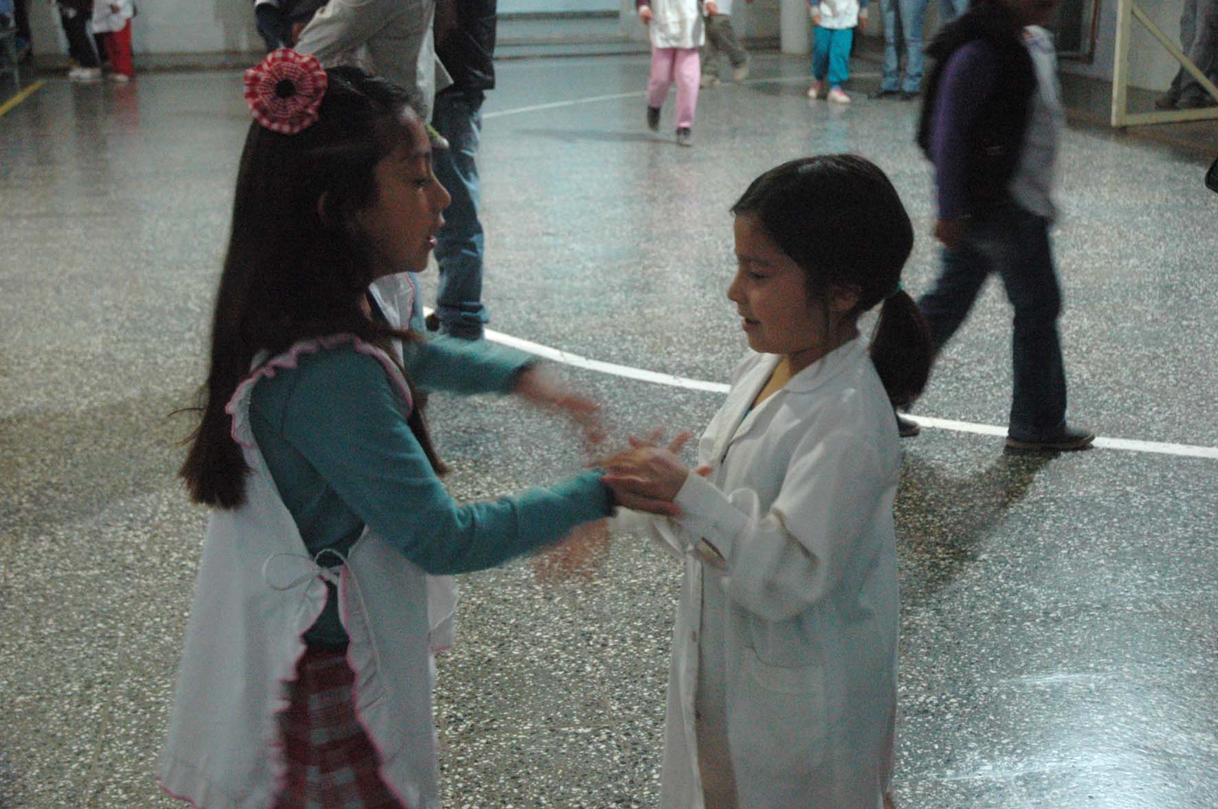
<path fill-rule="evenodd" d="M 963 323 L 990 272 L 1002 279 L 1015 307 L 1007 434 L 1021 441 L 1052 437 L 1066 425 L 1066 372 L 1057 336 L 1061 290 L 1046 219 L 1013 202 L 970 219 L 961 242 L 943 251 L 943 272 L 918 308 L 938 351 Z"/>

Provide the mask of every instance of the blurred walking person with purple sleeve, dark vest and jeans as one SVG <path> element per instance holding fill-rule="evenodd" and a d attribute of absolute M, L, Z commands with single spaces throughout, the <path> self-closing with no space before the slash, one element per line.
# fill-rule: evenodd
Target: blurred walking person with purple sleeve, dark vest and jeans
<path fill-rule="evenodd" d="M 927 49 L 935 60 L 918 127 L 934 163 L 943 270 L 918 306 L 940 348 L 989 274 L 1015 307 L 1015 390 L 1006 446 L 1084 450 L 1066 423 L 1061 291 L 1049 229 L 1063 113 L 1049 24 L 1058 0 L 978 0 Z M 910 422 L 904 419 L 903 433 Z"/>

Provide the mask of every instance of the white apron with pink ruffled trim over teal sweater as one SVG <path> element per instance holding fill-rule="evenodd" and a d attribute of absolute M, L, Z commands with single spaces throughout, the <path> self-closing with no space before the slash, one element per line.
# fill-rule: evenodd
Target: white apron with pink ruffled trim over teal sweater
<path fill-rule="evenodd" d="M 391 322 L 409 317 L 407 275 L 378 281 L 374 295 Z M 352 702 L 380 755 L 386 786 L 410 809 L 440 809 L 431 687 L 432 651 L 452 643 L 456 586 L 429 576 L 374 531 L 364 530 L 345 562 L 309 558 L 275 489 L 250 425 L 256 381 L 294 368 L 302 352 L 352 342 L 381 362 L 409 401 L 397 366 L 350 335 L 303 341 L 258 364 L 225 408 L 251 472 L 246 502 L 213 509 L 203 540 L 185 648 L 158 780 L 200 809 L 266 809 L 279 793 L 285 760 L 276 714 L 283 684 L 304 653 L 301 635 L 337 585 L 340 618 L 356 675 Z"/>

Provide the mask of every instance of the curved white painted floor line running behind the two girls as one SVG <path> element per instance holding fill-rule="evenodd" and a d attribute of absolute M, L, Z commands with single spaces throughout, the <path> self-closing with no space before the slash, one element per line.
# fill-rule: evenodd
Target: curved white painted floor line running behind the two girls
<path fill-rule="evenodd" d="M 424 309 L 430 314 L 431 309 Z M 661 374 L 655 370 L 644 370 L 642 368 L 632 368 L 631 366 L 620 366 L 614 362 L 602 362 L 599 359 L 588 359 L 587 357 L 581 357 L 580 355 L 570 353 L 569 351 L 561 351 L 559 348 L 552 348 L 549 346 L 543 346 L 540 342 L 532 342 L 531 340 L 521 340 L 520 337 L 513 337 L 509 334 L 503 334 L 502 331 L 495 331 L 492 329 L 486 330 L 486 339 L 491 342 L 498 342 L 499 345 L 510 346 L 513 348 L 519 348 L 521 351 L 527 351 L 531 355 L 537 355 L 546 359 L 552 359 L 554 362 L 563 363 L 564 366 L 571 366 L 572 368 L 585 368 L 587 370 L 596 370 L 602 374 L 610 374 L 613 376 L 624 376 L 626 379 L 637 379 L 644 383 L 654 383 L 657 385 L 667 385 L 670 387 L 685 387 L 687 390 L 702 390 L 713 394 L 726 394 L 728 386 L 723 383 L 708 383 L 700 379 L 688 379 L 686 376 L 676 376 L 674 374 Z M 993 424 L 974 424 L 972 422 L 957 422 L 955 419 L 938 419 L 929 415 L 914 415 L 910 418 L 917 422 L 922 426 L 938 429 L 938 430 L 951 430 L 952 433 L 972 433 L 973 435 L 994 435 L 999 437 L 1006 437 L 1005 426 L 995 426 Z M 1133 439 L 1105 439 L 1099 437 L 1095 440 L 1095 446 L 1105 450 L 1123 450 L 1125 452 L 1149 452 L 1152 454 L 1170 454 L 1180 456 L 1185 458 L 1208 458 L 1212 461 L 1218 461 L 1218 447 L 1200 447 L 1189 443 L 1167 443 L 1162 441 L 1136 441 Z"/>

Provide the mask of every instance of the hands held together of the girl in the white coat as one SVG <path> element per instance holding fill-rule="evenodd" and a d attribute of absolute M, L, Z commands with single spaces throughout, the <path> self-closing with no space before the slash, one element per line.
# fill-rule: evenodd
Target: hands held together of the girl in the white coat
<path fill-rule="evenodd" d="M 659 439 L 660 433 L 653 433 L 647 440 L 631 436 L 630 450 L 603 458 L 597 465 L 605 470 L 600 480 L 613 489 L 619 504 L 675 517 L 681 509 L 672 498 L 689 476 L 677 452 L 689 440 L 689 434 L 677 434 L 666 447 L 657 443 Z"/>

